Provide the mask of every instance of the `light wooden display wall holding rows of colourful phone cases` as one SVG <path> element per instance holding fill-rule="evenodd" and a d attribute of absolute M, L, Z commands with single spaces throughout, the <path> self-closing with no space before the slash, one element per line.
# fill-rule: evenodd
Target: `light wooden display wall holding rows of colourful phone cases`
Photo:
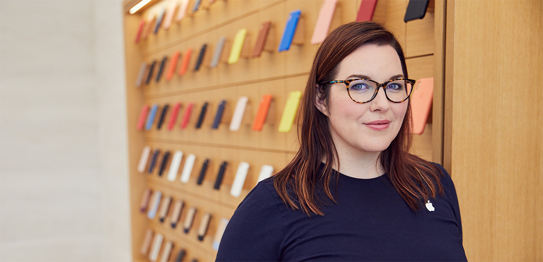
<path fill-rule="evenodd" d="M 150 228 L 164 237 L 157 260 L 161 260 L 163 256 L 165 243 L 172 241 L 173 248 L 171 254 L 167 256 L 168 260 L 175 260 L 179 250 L 184 249 L 186 250 L 185 261 L 192 258 L 199 261 L 211 261 L 216 256 L 213 238 L 216 235 L 219 220 L 230 219 L 239 203 L 256 185 L 262 165 L 272 165 L 275 171 L 280 170 L 292 159 L 298 149 L 296 120 L 291 132 L 278 132 L 277 127 L 288 93 L 304 90 L 311 62 L 318 47 L 312 45 L 310 40 L 323 1 L 217 0 L 210 4 L 209 0 L 203 0 L 202 9 L 184 17 L 180 22 L 174 21 L 167 30 L 161 28 L 157 34 L 150 33 L 146 39 L 136 44 L 136 33 L 141 18 L 147 20 L 159 14 L 163 8 L 169 7 L 172 1 L 176 0 L 154 1 L 143 11 L 134 15 L 129 15 L 127 12 L 124 15 L 132 256 L 138 261 L 149 259 L 149 250 L 141 252 L 141 247 L 144 235 Z M 134 1 L 125 1 L 124 5 L 128 7 L 133 3 Z M 403 22 L 403 15 L 407 3 L 407 0 L 379 1 L 374 21 L 389 26 L 403 43 L 409 78 L 432 77 L 434 66 L 441 65 L 439 57 L 434 56 L 434 49 L 436 46 L 439 47 L 435 41 L 441 39 L 434 41 L 434 23 L 437 22 L 434 21 L 433 4 L 423 20 L 406 24 Z M 340 24 L 355 21 L 359 4 L 359 0 L 339 0 L 330 30 Z M 188 9 L 191 10 L 193 5 L 194 1 L 191 0 Z M 277 52 L 288 15 L 296 9 L 301 10 L 301 20 L 295 35 L 300 44 L 293 44 L 286 52 Z M 247 54 L 252 52 L 260 24 L 266 21 L 271 21 L 267 45 L 273 49 L 264 51 L 260 57 L 250 58 Z M 229 53 L 233 37 L 242 28 L 247 29 L 247 37 L 239 61 L 230 65 L 223 59 L 216 68 L 209 68 L 219 37 L 226 37 L 224 52 Z M 195 61 L 204 43 L 207 44 L 207 51 L 203 66 L 199 71 L 194 71 Z M 181 53 L 177 72 L 188 48 L 192 48 L 193 53 L 187 73 L 182 76 L 176 73 L 172 80 L 167 81 L 166 69 L 172 62 L 172 54 Z M 158 67 L 165 56 L 169 58 L 162 78 L 157 82 L 155 78 Z M 148 85 L 143 83 L 141 87 L 136 87 L 136 78 L 142 62 L 150 64 L 155 60 L 153 79 Z M 438 69 L 438 71 L 442 70 L 443 68 Z M 438 96 L 434 98 L 433 117 L 430 117 L 425 133 L 415 137 L 414 152 L 440 163 L 442 161 L 441 144 L 443 144 L 443 120 L 441 120 L 443 112 L 440 108 L 443 108 L 443 99 L 439 95 L 442 91 L 443 79 L 439 78 L 438 74 L 434 80 L 434 92 Z M 262 131 L 253 131 L 252 122 L 264 94 L 273 96 L 269 113 Z M 229 125 L 236 101 L 242 96 L 247 96 L 249 99 L 242 126 L 239 131 L 230 131 Z M 222 121 L 218 129 L 212 129 L 213 119 L 222 100 L 226 101 Z M 203 125 L 197 129 L 195 125 L 204 102 L 208 103 L 207 113 Z M 174 128 L 168 130 L 166 126 L 175 103 L 181 103 L 181 108 Z M 189 103 L 194 104 L 192 115 L 186 129 L 181 129 L 180 119 L 184 116 Z M 137 130 L 136 125 L 142 106 L 153 104 L 159 105 L 153 127 L 150 130 Z M 170 108 L 159 130 L 157 121 L 165 104 L 169 104 Z M 146 171 L 142 174 L 136 168 L 144 146 L 150 146 L 152 149 L 151 157 L 156 149 L 160 150 L 160 155 L 154 171 L 148 172 L 148 163 Z M 157 173 L 164 153 L 170 151 L 173 155 L 178 150 L 184 154 L 183 161 L 175 181 L 170 182 L 166 179 L 169 163 L 166 165 L 164 175 L 159 176 Z M 184 167 L 185 158 L 189 154 L 194 154 L 196 159 L 190 180 L 183 183 L 179 176 Z M 203 183 L 197 185 L 197 177 L 205 158 L 209 158 L 209 167 Z M 228 165 L 222 185 L 219 190 L 216 190 L 213 189 L 213 185 L 223 161 L 228 162 Z M 241 161 L 249 163 L 250 168 L 241 196 L 234 197 L 230 195 L 230 188 Z M 170 209 L 175 201 L 184 201 L 179 224 L 185 221 L 190 207 L 197 208 L 193 225 L 188 233 L 184 232 L 182 225 L 176 228 L 171 227 L 169 222 L 171 211 L 168 212 L 165 222 L 160 222 L 159 215 L 156 215 L 154 219 L 148 219 L 147 210 L 140 211 L 142 195 L 148 188 L 153 192 L 160 191 L 162 199 L 165 196 L 171 196 Z M 210 213 L 211 220 L 203 241 L 199 241 L 197 229 L 204 213 Z"/>

